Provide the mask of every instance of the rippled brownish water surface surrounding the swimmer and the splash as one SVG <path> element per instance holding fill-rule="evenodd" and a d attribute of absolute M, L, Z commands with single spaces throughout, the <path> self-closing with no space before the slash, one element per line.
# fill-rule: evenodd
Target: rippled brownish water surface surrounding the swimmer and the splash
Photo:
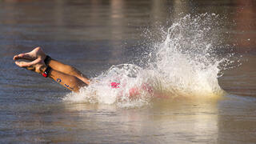
<path fill-rule="evenodd" d="M 0 0 L 0 142 L 255 143 L 255 8 L 252 0 Z M 160 100 L 132 109 L 66 103 L 68 90 L 12 60 L 42 46 L 92 78 L 137 58 L 144 30 L 202 13 L 223 17 L 228 36 L 220 39 L 242 62 L 222 70 L 218 83 L 227 94 L 219 100 Z"/>

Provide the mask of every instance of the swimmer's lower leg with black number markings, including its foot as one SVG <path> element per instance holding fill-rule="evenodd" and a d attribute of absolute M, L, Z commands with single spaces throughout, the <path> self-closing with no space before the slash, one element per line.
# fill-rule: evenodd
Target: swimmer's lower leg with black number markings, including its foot
<path fill-rule="evenodd" d="M 17 66 L 26 68 L 27 70 L 32 70 L 38 74 L 42 74 L 47 67 L 40 59 L 36 59 L 32 62 L 15 62 L 15 64 Z M 53 78 L 54 81 L 74 92 L 78 92 L 81 87 L 86 86 L 85 82 L 82 82 L 81 79 L 75 77 L 74 75 L 64 74 L 54 69 L 50 71 L 49 77 Z"/>

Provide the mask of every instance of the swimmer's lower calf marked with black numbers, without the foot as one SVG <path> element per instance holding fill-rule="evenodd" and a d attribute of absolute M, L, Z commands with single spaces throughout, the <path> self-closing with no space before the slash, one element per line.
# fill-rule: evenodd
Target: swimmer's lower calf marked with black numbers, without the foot
<path fill-rule="evenodd" d="M 42 71 L 45 71 L 46 68 L 44 68 Z M 79 89 L 83 86 L 86 86 L 85 82 L 82 82 L 81 79 L 69 75 L 69 74 L 64 74 L 58 70 L 52 69 L 49 74 L 50 78 L 53 78 L 54 81 L 58 82 L 62 86 L 66 87 L 69 90 L 72 90 L 74 92 L 79 92 Z"/>

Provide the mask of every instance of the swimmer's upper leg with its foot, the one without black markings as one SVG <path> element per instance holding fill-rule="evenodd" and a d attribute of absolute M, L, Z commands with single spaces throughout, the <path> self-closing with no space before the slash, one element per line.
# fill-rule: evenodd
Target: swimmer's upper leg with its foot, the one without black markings
<path fill-rule="evenodd" d="M 42 48 L 40 47 L 35 48 L 29 53 L 18 54 L 14 56 L 14 60 L 26 59 L 29 61 L 34 61 L 35 59 L 40 59 L 43 61 L 45 58 L 46 58 L 46 54 L 42 51 Z M 86 83 L 86 85 L 90 84 L 90 79 L 87 78 L 85 74 L 82 74 L 79 70 L 77 70 L 73 66 L 63 64 L 62 62 L 58 62 L 57 60 L 54 60 L 54 59 L 50 60 L 49 66 L 52 69 L 58 70 L 63 74 L 68 74 L 68 75 L 79 78 L 80 80 L 82 80 L 82 82 Z"/>

